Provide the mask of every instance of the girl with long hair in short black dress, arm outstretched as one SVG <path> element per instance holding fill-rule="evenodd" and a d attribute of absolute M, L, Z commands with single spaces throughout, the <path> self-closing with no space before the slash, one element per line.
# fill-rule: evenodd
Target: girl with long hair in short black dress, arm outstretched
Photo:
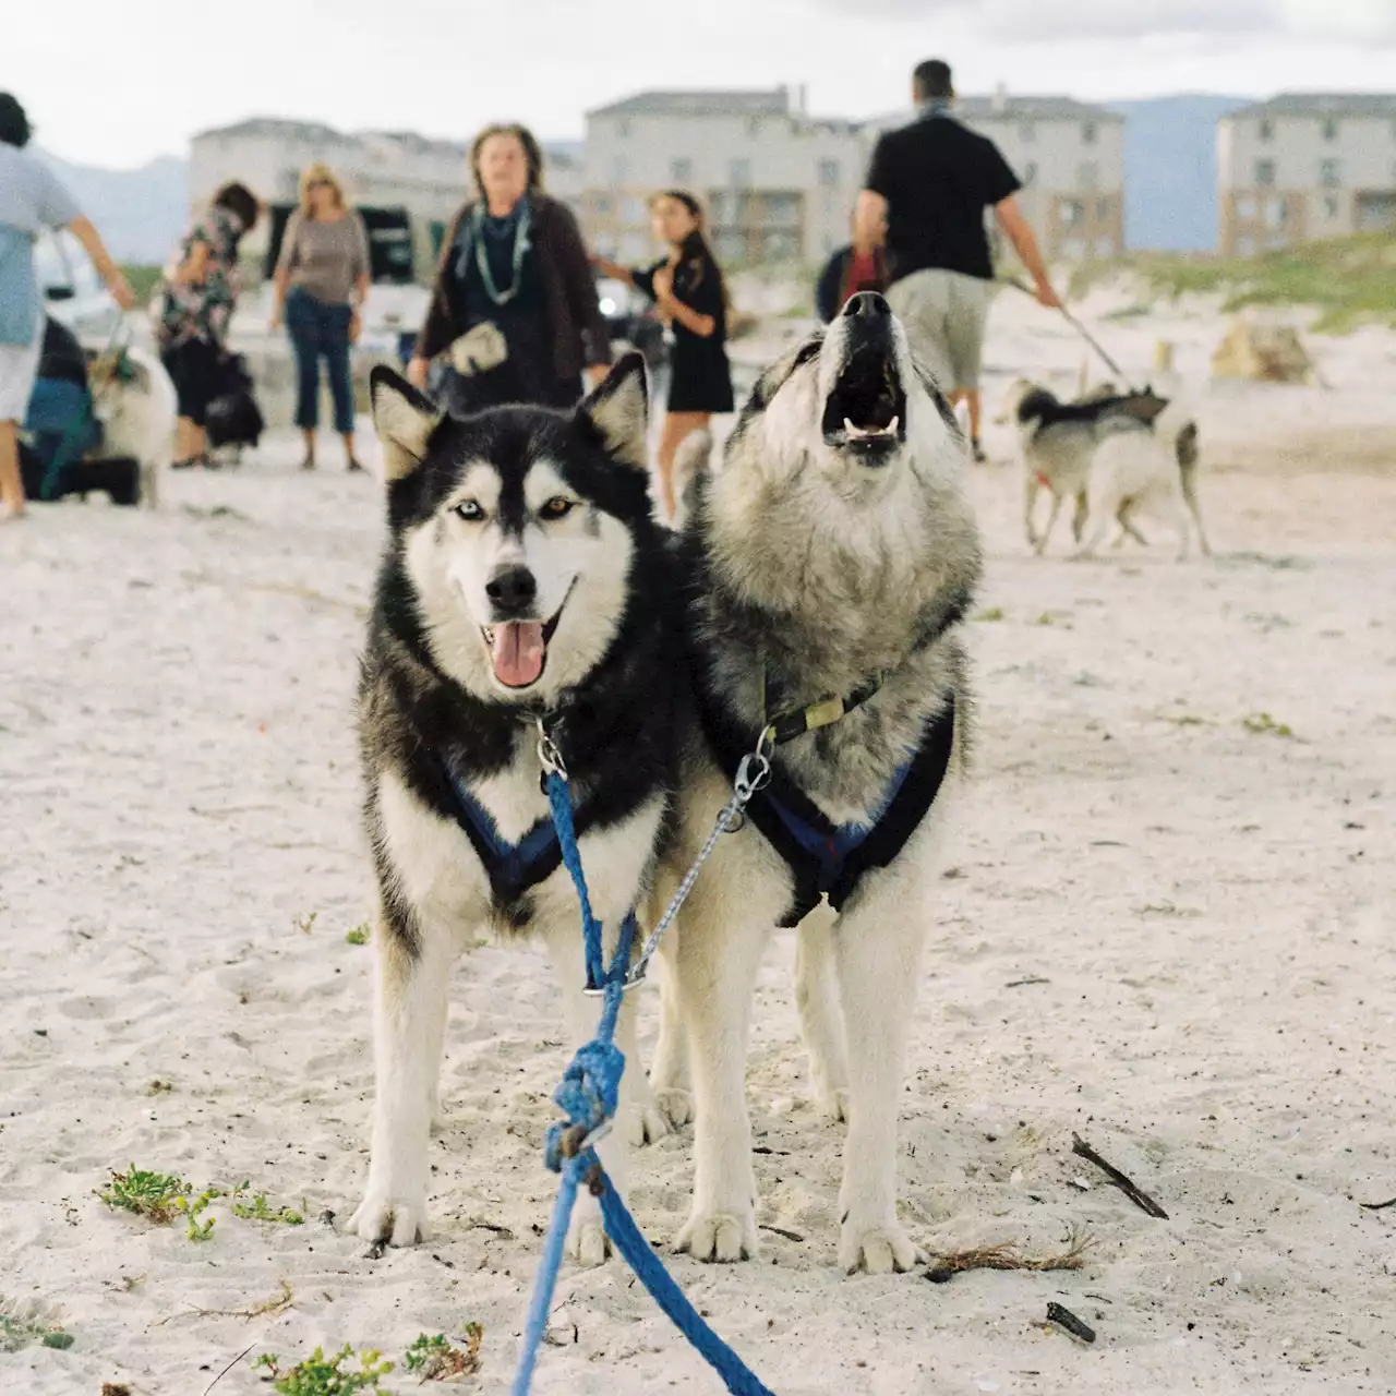
<path fill-rule="evenodd" d="M 596 267 L 649 296 L 674 336 L 669 403 L 659 436 L 659 497 L 666 518 L 674 517 L 674 455 L 690 431 L 708 424 L 715 412 L 732 412 L 727 367 L 727 292 L 708 239 L 702 205 L 692 194 L 664 190 L 649 202 L 655 236 L 669 243 L 669 255 L 648 268 L 618 267 L 603 257 Z"/>

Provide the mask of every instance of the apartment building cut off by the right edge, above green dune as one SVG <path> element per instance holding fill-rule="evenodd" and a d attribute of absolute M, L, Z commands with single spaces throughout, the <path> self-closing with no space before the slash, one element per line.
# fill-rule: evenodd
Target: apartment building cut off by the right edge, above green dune
<path fill-rule="evenodd" d="M 1284 92 L 1217 123 L 1223 255 L 1396 229 L 1396 92 Z"/>

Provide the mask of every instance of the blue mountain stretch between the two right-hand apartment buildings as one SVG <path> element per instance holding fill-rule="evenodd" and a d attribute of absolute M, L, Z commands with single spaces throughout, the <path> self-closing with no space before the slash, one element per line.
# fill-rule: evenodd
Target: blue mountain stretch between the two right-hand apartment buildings
<path fill-rule="evenodd" d="M 1215 251 L 1217 121 L 1251 98 L 1189 94 L 1108 102 L 1125 117 L 1125 246 Z"/>

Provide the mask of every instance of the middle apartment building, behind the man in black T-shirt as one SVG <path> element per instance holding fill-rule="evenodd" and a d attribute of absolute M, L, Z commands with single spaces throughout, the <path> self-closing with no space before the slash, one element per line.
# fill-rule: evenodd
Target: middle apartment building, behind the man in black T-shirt
<path fill-rule="evenodd" d="M 966 98 L 966 124 L 998 142 L 1044 251 L 1085 261 L 1124 248 L 1122 117 L 1069 98 Z M 706 204 L 725 261 L 815 262 L 847 240 L 879 131 L 872 121 L 814 119 L 801 88 L 641 92 L 589 112 L 582 221 L 621 261 L 655 248 L 645 200 L 688 188 Z"/>

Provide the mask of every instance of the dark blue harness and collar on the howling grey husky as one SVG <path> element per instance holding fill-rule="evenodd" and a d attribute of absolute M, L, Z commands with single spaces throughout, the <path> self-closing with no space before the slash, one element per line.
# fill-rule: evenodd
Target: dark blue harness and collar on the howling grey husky
<path fill-rule="evenodd" d="M 826 698 L 776 716 L 762 729 L 762 745 L 780 745 L 838 722 L 867 702 L 881 684 L 878 674 L 845 698 Z M 718 711 L 701 683 L 698 691 L 704 730 L 718 765 L 729 779 L 736 779 L 752 743 Z M 751 799 L 745 812 L 794 878 L 794 895 L 779 926 L 799 926 L 822 896 L 828 896 L 836 912 L 842 910 L 864 872 L 886 867 L 906 847 L 945 783 L 953 743 L 955 698 L 951 695 L 945 709 L 926 723 L 916 751 L 892 775 L 870 824 L 832 824 L 772 762 L 769 780 Z"/>

